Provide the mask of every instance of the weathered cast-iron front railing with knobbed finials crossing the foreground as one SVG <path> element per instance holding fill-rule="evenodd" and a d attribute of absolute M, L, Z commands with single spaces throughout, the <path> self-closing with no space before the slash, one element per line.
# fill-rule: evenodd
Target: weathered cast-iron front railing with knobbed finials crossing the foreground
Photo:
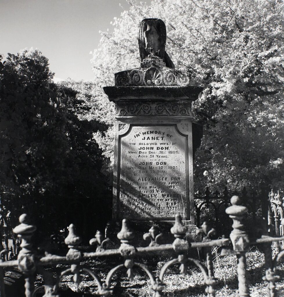
<path fill-rule="evenodd" d="M 45 256 L 40 256 L 35 252 L 32 246 L 31 238 L 36 230 L 34 225 L 29 224 L 29 219 L 26 214 L 20 216 L 20 225 L 14 228 L 14 232 L 21 239 L 21 250 L 17 260 L 8 260 L 0 262 L 0 293 L 1 296 L 5 296 L 4 291 L 4 268 L 10 269 L 17 267 L 25 277 L 25 296 L 31 297 L 34 292 L 34 278 L 35 273 L 41 274 L 44 279 L 45 286 L 45 297 L 57 296 L 57 290 L 59 288 L 59 282 L 61 277 L 65 274 L 73 275 L 73 282 L 75 285 L 79 285 L 82 281 L 80 271 L 85 271 L 90 274 L 97 284 L 97 294 L 100 296 L 110 296 L 112 294 L 112 282 L 115 273 L 122 269 L 126 269 L 128 279 L 131 281 L 135 274 L 133 268 L 141 268 L 148 275 L 151 285 L 150 289 L 153 291 L 154 297 L 163 296 L 163 290 L 165 284 L 163 282 L 164 276 L 171 266 L 175 263 L 179 264 L 179 271 L 185 275 L 189 263 L 193 263 L 203 273 L 203 284 L 205 285 L 205 291 L 208 297 L 215 296 L 215 288 L 218 280 L 214 277 L 213 263 L 212 263 L 212 247 L 222 246 L 221 255 L 235 254 L 237 257 L 237 273 L 238 273 L 238 284 L 239 284 L 239 296 L 250 296 L 249 286 L 247 282 L 247 268 L 246 268 L 246 252 L 249 250 L 251 244 L 262 244 L 264 247 L 265 255 L 265 276 L 264 280 L 267 281 L 267 290 L 270 297 L 276 296 L 275 282 L 279 279 L 276 273 L 277 263 L 282 257 L 284 257 L 284 251 L 281 251 L 277 256 L 272 259 L 271 243 L 274 241 L 284 240 L 282 237 L 271 237 L 268 234 L 267 222 L 264 221 L 262 228 L 262 236 L 255 241 L 250 241 L 250 238 L 245 231 L 244 217 L 246 216 L 248 209 L 241 205 L 241 200 L 238 196 L 233 196 L 230 200 L 231 206 L 226 208 L 226 213 L 233 220 L 233 230 L 230 234 L 231 244 L 229 247 L 230 239 L 221 238 L 214 240 L 212 236 L 215 230 L 210 228 L 205 222 L 202 227 L 197 230 L 197 233 L 203 235 L 201 242 L 188 242 L 184 240 L 187 232 L 187 228 L 182 224 L 181 217 L 176 216 L 176 221 L 171 228 L 171 233 L 175 239 L 172 244 L 158 244 L 157 238 L 159 237 L 158 231 L 155 228 L 151 228 L 149 233 L 144 235 L 145 240 L 150 239 L 148 247 L 135 247 L 132 245 L 132 240 L 135 237 L 135 233 L 129 228 L 127 220 L 122 221 L 122 229 L 117 234 L 120 240 L 120 247 L 118 249 L 106 249 L 105 244 L 108 241 L 107 238 L 101 233 L 97 233 L 95 238 L 90 240 L 90 244 L 96 244 L 96 252 L 83 252 L 79 245 L 81 243 L 81 237 L 75 232 L 74 225 L 69 226 L 69 234 L 65 238 L 65 244 L 68 245 L 68 252 L 66 256 L 51 255 L 46 253 Z M 193 255 L 192 250 L 202 247 L 206 253 L 205 265 L 198 259 L 189 257 Z M 166 262 L 161 270 L 159 276 L 156 278 L 145 264 L 137 260 L 139 255 L 147 255 L 149 253 L 156 253 L 160 255 L 161 251 L 172 250 L 176 252 L 176 257 Z M 2 251 L 3 254 L 5 251 Z M 113 255 L 119 255 L 122 258 L 122 263 L 112 268 L 104 281 L 99 277 L 99 273 L 92 270 L 88 266 L 83 266 L 80 262 L 84 259 L 93 257 L 110 257 Z M 68 268 L 64 268 L 60 274 L 54 278 L 53 275 L 48 271 L 47 267 L 56 264 L 68 264 Z"/>

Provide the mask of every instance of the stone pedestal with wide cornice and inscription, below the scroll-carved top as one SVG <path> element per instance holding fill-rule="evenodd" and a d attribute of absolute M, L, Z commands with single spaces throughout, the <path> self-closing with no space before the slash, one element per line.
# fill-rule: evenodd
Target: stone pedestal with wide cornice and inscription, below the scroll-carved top
<path fill-rule="evenodd" d="M 108 236 L 119 232 L 124 218 L 139 234 L 152 225 L 170 234 L 180 214 L 187 236 L 197 239 L 191 102 L 201 88 L 114 86 L 104 91 L 115 102 L 116 113 L 113 223 Z"/>

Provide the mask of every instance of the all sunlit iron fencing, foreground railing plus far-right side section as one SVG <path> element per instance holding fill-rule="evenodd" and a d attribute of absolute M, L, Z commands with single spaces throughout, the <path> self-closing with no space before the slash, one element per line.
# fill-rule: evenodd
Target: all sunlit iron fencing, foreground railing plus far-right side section
<path fill-rule="evenodd" d="M 281 233 L 283 230 L 280 228 L 279 222 L 279 212 L 280 208 L 283 208 L 283 205 L 277 203 L 277 199 L 280 197 L 280 191 L 277 191 L 277 194 L 273 193 L 273 201 L 271 202 L 271 206 L 273 206 L 272 211 L 274 212 L 274 221 L 275 221 L 275 228 L 278 230 L 277 236 L 280 237 L 272 237 L 268 234 L 267 228 L 271 226 L 267 226 L 266 221 L 263 220 L 262 228 L 261 228 L 261 237 L 260 238 L 253 238 L 253 242 L 250 243 L 250 238 L 245 231 L 244 225 L 244 217 L 246 216 L 248 210 L 245 206 L 242 205 L 242 199 L 239 196 L 233 196 L 231 198 L 232 206 L 226 208 L 226 213 L 233 219 L 233 231 L 231 232 L 231 242 L 233 244 L 233 251 L 227 250 L 225 252 L 223 248 L 222 255 L 228 254 L 228 252 L 235 254 L 238 257 L 237 262 L 237 272 L 238 272 L 238 280 L 239 280 L 239 292 L 240 296 L 249 296 L 249 290 L 246 282 L 246 252 L 249 249 L 250 244 L 263 244 L 264 253 L 265 253 L 265 276 L 264 280 L 267 281 L 267 289 L 269 291 L 270 296 L 274 296 L 275 291 L 275 282 L 279 279 L 279 276 L 276 275 L 275 267 L 277 265 L 277 261 L 284 256 L 284 252 L 280 252 L 274 260 L 272 261 L 272 251 L 271 251 L 271 243 L 274 241 L 283 241 L 284 236 Z M 270 194 L 271 195 L 271 194 Z M 205 197 L 203 197 L 205 199 Z M 216 199 L 211 197 L 210 199 Z M 276 200 L 275 200 L 276 199 Z M 211 202 L 210 202 L 211 203 Z M 273 222 L 272 211 L 270 214 L 270 222 Z M 206 292 L 214 296 L 215 286 L 217 280 L 214 277 L 213 271 L 213 264 L 212 264 L 212 247 L 222 246 L 225 247 L 229 244 L 228 239 L 217 239 L 212 240 L 211 236 L 215 233 L 215 230 L 209 226 L 207 222 L 202 224 L 202 227 L 197 231 L 197 233 L 203 233 L 202 242 L 188 242 L 184 239 L 187 228 L 182 224 L 182 217 L 180 215 L 176 215 L 175 223 L 171 228 L 171 233 L 176 237 L 173 244 L 158 244 L 157 246 L 149 245 L 148 247 L 134 247 L 130 244 L 131 240 L 134 238 L 134 232 L 130 230 L 129 222 L 127 220 L 122 221 L 122 228 L 121 231 L 118 233 L 118 238 L 121 240 L 121 245 L 117 249 L 97 249 L 96 252 L 81 252 L 79 248 L 79 244 L 81 243 L 81 237 L 77 235 L 75 226 L 71 224 L 69 226 L 69 234 L 65 238 L 65 243 L 68 244 L 70 248 L 67 255 L 64 256 L 56 256 L 51 255 L 49 253 L 45 253 L 45 256 L 35 255 L 31 244 L 31 237 L 36 230 L 36 227 L 29 224 L 29 217 L 26 214 L 23 214 L 19 218 L 20 224 L 14 228 L 14 232 L 18 234 L 21 238 L 21 247 L 22 250 L 18 255 L 17 260 L 11 261 L 0 261 L 0 268 L 3 271 L 4 267 L 11 267 L 11 266 L 18 266 L 19 269 L 25 275 L 25 282 L 26 282 L 26 296 L 31 296 L 32 289 L 34 285 L 34 272 L 37 270 L 38 272 L 44 271 L 44 266 L 47 264 L 65 264 L 70 263 L 71 268 L 65 269 L 62 271 L 63 274 L 71 272 L 73 274 L 73 282 L 75 285 L 79 285 L 81 282 L 80 273 L 81 270 L 88 271 L 91 276 L 96 280 L 98 284 L 98 293 L 102 296 L 107 296 L 111 294 L 111 278 L 115 275 L 116 271 L 123 268 L 127 269 L 127 276 L 130 280 L 132 280 L 134 276 L 133 268 L 138 266 L 144 271 L 147 272 L 148 276 L 151 280 L 151 288 L 154 290 L 157 296 L 162 296 L 162 290 L 165 288 L 163 284 L 163 276 L 167 269 L 172 266 L 174 263 L 180 264 L 180 272 L 185 274 L 187 272 L 187 263 L 191 261 L 195 263 L 199 268 L 203 270 L 204 274 L 204 284 L 206 284 Z M 278 225 L 277 225 L 277 224 Z M 282 231 L 281 231 L 282 230 Z M 150 239 L 154 242 L 160 238 L 161 233 L 156 226 L 152 226 L 149 230 Z M 95 237 L 93 238 L 97 244 L 103 245 L 108 238 L 104 239 L 104 236 L 100 231 L 97 231 Z M 198 260 L 188 257 L 188 253 L 190 249 L 196 247 L 203 247 L 206 253 L 206 267 L 204 267 Z M 161 251 L 166 250 L 174 250 L 177 254 L 175 259 L 172 259 L 166 262 L 161 269 L 160 277 L 158 280 L 155 281 L 154 275 L 149 270 L 146 264 L 142 264 L 135 261 L 136 255 L 150 255 L 150 253 L 155 252 L 156 255 L 161 255 Z M 1 252 L 2 254 L 4 251 Z M 105 283 L 101 282 L 98 276 L 91 271 L 91 269 L 86 268 L 84 266 L 80 266 L 80 261 L 83 259 L 87 259 L 89 257 L 104 257 L 104 256 L 111 256 L 111 255 L 120 255 L 124 258 L 124 264 L 120 264 L 115 268 L 112 268 L 111 271 L 108 273 Z M 207 268 L 207 270 L 206 270 Z M 207 272 L 206 272 L 207 271 Z M 1 271 L 0 271 L 1 272 Z M 61 274 L 62 274 L 61 273 Z M 1 273 L 0 273 L 1 274 Z M 3 274 L 1 274 L 3 275 Z M 1 277 L 1 276 L 0 276 Z M 44 276 L 45 277 L 45 276 Z M 1 278 L 3 279 L 3 277 Z M 59 282 L 60 278 L 58 279 Z M 3 283 L 3 280 L 1 284 Z M 58 287 L 58 286 L 57 286 Z M 53 290 L 54 294 L 56 294 L 56 288 Z M 1 287 L 0 287 L 1 289 Z"/>

